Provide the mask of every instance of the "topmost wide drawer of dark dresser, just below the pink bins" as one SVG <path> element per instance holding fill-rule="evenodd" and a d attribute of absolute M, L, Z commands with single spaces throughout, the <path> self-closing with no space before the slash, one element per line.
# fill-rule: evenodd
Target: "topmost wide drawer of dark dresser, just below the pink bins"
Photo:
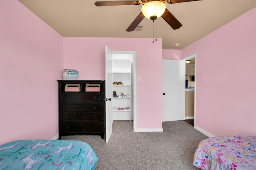
<path fill-rule="evenodd" d="M 101 93 L 97 92 L 62 92 L 62 102 L 102 102 Z"/>

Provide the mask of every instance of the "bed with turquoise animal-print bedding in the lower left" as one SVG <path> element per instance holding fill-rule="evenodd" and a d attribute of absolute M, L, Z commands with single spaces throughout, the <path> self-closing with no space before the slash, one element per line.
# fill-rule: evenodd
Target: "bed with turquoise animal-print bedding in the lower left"
<path fill-rule="evenodd" d="M 0 146 L 1 170 L 93 170 L 90 145 L 68 140 L 21 140 Z"/>

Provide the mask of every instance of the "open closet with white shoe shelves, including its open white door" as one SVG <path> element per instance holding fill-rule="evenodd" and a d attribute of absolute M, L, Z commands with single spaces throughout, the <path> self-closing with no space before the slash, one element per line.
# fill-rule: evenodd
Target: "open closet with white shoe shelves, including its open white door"
<path fill-rule="evenodd" d="M 106 143 L 114 120 L 136 122 L 136 51 L 106 46 Z"/>

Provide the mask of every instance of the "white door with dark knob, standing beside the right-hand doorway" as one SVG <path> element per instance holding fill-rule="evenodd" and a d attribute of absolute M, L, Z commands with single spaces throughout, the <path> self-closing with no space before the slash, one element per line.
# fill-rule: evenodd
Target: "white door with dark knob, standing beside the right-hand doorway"
<path fill-rule="evenodd" d="M 162 121 L 185 119 L 185 61 L 162 60 Z"/>

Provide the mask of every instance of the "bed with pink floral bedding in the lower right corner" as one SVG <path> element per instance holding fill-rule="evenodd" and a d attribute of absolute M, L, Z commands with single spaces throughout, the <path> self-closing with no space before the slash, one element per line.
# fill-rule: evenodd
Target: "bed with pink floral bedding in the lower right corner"
<path fill-rule="evenodd" d="M 193 165 L 202 170 L 256 170 L 256 136 L 221 136 L 201 141 Z"/>

